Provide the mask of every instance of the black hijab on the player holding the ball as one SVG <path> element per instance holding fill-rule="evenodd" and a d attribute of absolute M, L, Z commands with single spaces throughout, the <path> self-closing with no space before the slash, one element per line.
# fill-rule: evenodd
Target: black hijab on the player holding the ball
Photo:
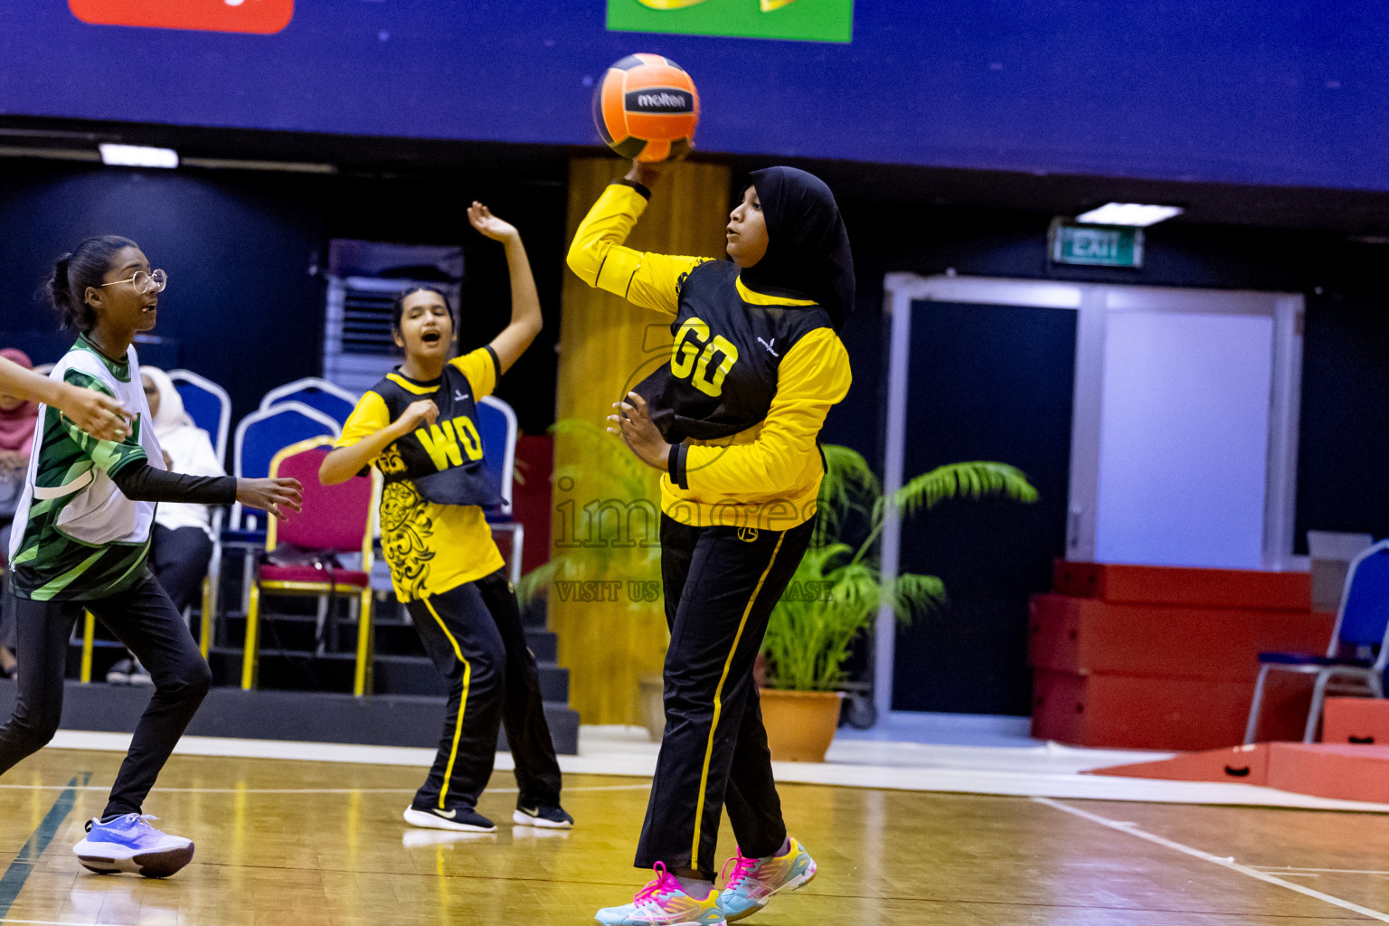
<path fill-rule="evenodd" d="M 843 328 L 854 310 L 854 258 L 835 194 L 814 174 L 793 167 L 753 171 L 767 219 L 767 254 L 742 272 L 758 293 L 818 303 Z"/>

